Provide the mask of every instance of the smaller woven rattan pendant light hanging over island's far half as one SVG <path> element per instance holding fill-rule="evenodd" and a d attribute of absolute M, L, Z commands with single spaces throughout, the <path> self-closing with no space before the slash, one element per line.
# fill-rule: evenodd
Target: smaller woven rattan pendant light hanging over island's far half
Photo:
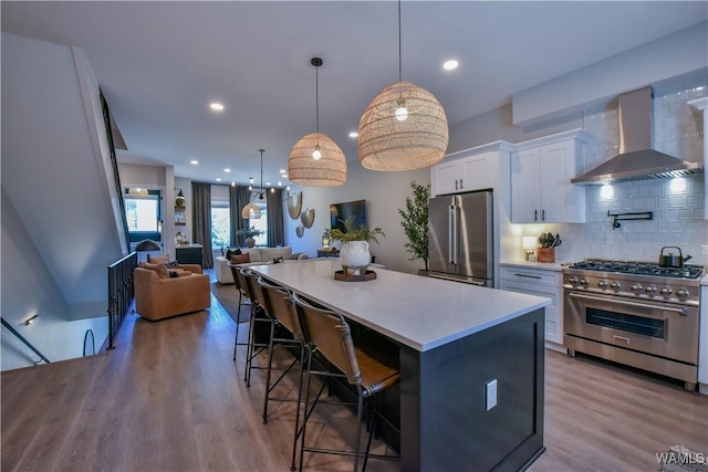
<path fill-rule="evenodd" d="M 308 187 L 341 186 L 346 180 L 346 158 L 327 135 L 320 133 L 320 92 L 317 69 L 322 59 L 312 57 L 315 67 L 316 133 L 300 139 L 290 150 L 288 175 L 292 182 Z"/>

